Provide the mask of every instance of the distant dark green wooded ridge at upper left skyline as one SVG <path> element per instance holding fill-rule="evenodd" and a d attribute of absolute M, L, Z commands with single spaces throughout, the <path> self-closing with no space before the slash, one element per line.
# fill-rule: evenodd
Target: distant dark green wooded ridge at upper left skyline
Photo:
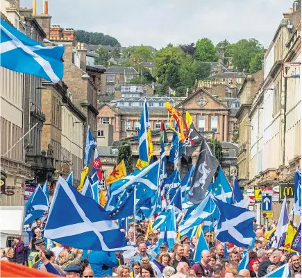
<path fill-rule="evenodd" d="M 115 37 L 98 32 L 87 32 L 84 30 L 76 30 L 76 41 L 85 42 L 86 44 L 119 46 L 119 42 Z"/>

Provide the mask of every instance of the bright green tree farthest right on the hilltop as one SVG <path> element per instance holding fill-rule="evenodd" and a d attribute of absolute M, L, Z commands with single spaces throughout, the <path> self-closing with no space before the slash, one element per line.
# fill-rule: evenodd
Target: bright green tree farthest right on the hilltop
<path fill-rule="evenodd" d="M 235 44 L 231 44 L 229 51 L 232 54 L 233 67 L 239 69 L 240 71 L 248 71 L 250 68 L 251 60 L 258 53 L 263 52 L 263 48 L 258 40 L 240 40 Z"/>

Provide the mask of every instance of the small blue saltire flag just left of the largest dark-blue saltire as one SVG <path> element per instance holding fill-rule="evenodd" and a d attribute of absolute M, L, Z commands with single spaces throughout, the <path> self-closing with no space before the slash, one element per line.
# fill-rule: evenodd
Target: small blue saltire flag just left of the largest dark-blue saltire
<path fill-rule="evenodd" d="M 31 195 L 31 198 L 26 202 L 24 225 L 33 223 L 33 221 L 40 218 L 47 209 L 47 196 L 39 184 Z"/>

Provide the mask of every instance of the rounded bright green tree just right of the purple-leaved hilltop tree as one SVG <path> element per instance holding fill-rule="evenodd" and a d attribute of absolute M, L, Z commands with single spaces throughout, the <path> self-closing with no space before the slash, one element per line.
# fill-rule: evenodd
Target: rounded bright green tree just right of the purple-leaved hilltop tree
<path fill-rule="evenodd" d="M 206 37 L 196 42 L 196 60 L 201 62 L 218 61 L 218 55 L 212 41 Z"/>

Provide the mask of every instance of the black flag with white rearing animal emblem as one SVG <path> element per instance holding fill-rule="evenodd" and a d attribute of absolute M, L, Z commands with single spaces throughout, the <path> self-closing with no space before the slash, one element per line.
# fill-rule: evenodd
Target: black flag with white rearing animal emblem
<path fill-rule="evenodd" d="M 205 193 L 218 166 L 218 160 L 210 154 L 208 145 L 203 140 L 187 196 L 190 202 L 198 205 L 205 198 Z"/>

